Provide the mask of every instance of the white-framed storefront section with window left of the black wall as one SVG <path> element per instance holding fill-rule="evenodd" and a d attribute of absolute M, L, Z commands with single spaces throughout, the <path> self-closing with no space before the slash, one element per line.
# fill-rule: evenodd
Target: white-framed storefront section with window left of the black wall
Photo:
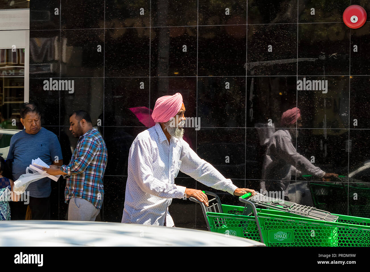
<path fill-rule="evenodd" d="M 0 10 L 0 126 L 22 129 L 20 105 L 28 101 L 28 1 L 9 1 Z"/>

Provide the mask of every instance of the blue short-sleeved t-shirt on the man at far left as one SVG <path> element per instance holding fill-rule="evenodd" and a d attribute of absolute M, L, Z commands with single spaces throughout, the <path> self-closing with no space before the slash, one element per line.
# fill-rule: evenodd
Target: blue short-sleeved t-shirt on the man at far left
<path fill-rule="evenodd" d="M 63 159 L 60 144 L 53 132 L 41 127 L 36 134 L 28 134 L 22 130 L 11 137 L 7 159 L 14 159 L 12 164 L 13 178 L 16 181 L 20 175 L 26 174 L 26 168 L 33 159 L 40 158 L 47 165 L 53 164 L 55 156 Z M 32 182 L 27 187 L 31 197 L 49 197 L 51 193 L 50 178 L 42 178 Z"/>

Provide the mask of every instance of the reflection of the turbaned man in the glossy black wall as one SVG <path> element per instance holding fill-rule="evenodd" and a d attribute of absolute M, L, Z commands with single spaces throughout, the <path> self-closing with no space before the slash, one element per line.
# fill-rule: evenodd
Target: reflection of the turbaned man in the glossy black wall
<path fill-rule="evenodd" d="M 324 178 L 338 177 L 334 173 L 325 173 L 319 167 L 314 166 L 308 159 L 300 155 L 292 143 L 292 136 L 296 137 L 296 128 L 302 127 L 302 117 L 299 108 L 285 111 L 280 121 L 286 129 L 277 130 L 268 143 L 262 168 L 261 187 L 265 184 L 267 191 L 284 192 L 287 197 L 290 178 L 294 171 L 305 172 L 315 177 Z M 269 179 L 269 180 L 268 180 Z"/>

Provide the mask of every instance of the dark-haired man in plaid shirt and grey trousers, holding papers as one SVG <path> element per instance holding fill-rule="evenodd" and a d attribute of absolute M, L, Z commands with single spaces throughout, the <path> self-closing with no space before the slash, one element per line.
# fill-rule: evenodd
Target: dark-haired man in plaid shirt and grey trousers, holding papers
<path fill-rule="evenodd" d="M 107 147 L 92 127 L 90 115 L 83 110 L 70 115 L 70 131 L 79 138 L 71 163 L 57 169 L 44 168 L 50 175 L 64 175 L 68 220 L 95 221 L 103 203 L 103 175 L 107 165 Z"/>

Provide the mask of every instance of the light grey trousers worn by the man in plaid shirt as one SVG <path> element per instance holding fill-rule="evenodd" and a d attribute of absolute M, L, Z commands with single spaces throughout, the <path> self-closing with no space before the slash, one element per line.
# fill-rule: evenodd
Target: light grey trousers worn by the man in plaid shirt
<path fill-rule="evenodd" d="M 73 197 L 68 204 L 68 220 L 95 221 L 100 209 L 86 199 Z"/>

